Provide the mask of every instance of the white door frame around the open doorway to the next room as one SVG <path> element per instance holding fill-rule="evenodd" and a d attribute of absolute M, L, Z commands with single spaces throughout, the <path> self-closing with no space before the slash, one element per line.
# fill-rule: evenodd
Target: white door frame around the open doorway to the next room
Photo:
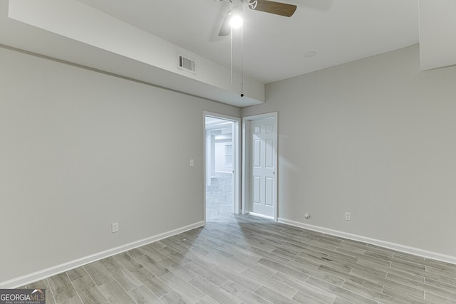
<path fill-rule="evenodd" d="M 234 199 L 234 213 L 235 214 L 241 214 L 241 137 L 239 136 L 239 126 L 241 125 L 241 118 L 239 117 L 234 117 L 234 116 L 228 116 L 228 115 L 223 115 L 223 114 L 218 114 L 214 112 L 207 112 L 203 111 L 202 113 L 202 121 L 203 121 L 203 167 L 202 167 L 202 172 L 203 172 L 203 201 L 204 201 L 204 209 L 203 209 L 203 219 L 204 223 L 206 223 L 206 180 L 207 180 L 207 168 L 206 168 L 206 117 L 214 117 L 214 118 L 219 118 L 221 120 L 229 120 L 231 122 L 234 122 L 234 132 L 232 135 L 232 142 L 233 142 L 233 186 L 234 186 L 234 192 L 233 192 L 233 199 Z M 210 177 L 209 177 L 210 178 Z"/>

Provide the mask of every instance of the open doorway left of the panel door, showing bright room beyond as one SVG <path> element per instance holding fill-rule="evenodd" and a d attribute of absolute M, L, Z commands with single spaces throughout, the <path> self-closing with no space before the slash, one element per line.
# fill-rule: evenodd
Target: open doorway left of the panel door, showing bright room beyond
<path fill-rule="evenodd" d="M 205 221 L 239 213 L 239 119 L 204 113 Z"/>

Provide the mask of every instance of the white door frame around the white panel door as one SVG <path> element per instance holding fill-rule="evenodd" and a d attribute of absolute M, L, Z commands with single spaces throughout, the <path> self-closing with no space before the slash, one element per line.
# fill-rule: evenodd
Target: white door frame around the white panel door
<path fill-rule="evenodd" d="M 242 117 L 242 214 L 249 213 L 249 203 L 252 199 L 252 147 L 250 138 L 252 135 L 252 129 L 250 127 L 252 121 L 263 120 L 266 118 L 274 119 L 275 125 L 275 137 L 274 137 L 274 221 L 278 221 L 278 180 L 279 180 L 279 154 L 277 153 L 278 138 L 279 138 L 279 124 L 278 124 L 279 112 L 270 112 L 259 115 L 245 116 Z"/>

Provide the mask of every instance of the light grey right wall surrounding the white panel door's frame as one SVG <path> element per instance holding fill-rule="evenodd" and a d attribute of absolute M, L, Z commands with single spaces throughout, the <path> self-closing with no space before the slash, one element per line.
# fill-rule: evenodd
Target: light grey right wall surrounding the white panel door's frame
<path fill-rule="evenodd" d="M 279 112 L 279 218 L 456 257 L 456 67 L 419 68 L 410 46 L 242 109 Z"/>

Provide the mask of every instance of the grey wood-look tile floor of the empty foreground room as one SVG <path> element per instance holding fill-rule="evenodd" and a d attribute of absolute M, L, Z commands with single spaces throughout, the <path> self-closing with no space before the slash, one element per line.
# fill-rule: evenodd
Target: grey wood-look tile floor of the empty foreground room
<path fill-rule="evenodd" d="M 456 266 L 232 215 L 26 288 L 48 304 L 456 303 Z"/>

